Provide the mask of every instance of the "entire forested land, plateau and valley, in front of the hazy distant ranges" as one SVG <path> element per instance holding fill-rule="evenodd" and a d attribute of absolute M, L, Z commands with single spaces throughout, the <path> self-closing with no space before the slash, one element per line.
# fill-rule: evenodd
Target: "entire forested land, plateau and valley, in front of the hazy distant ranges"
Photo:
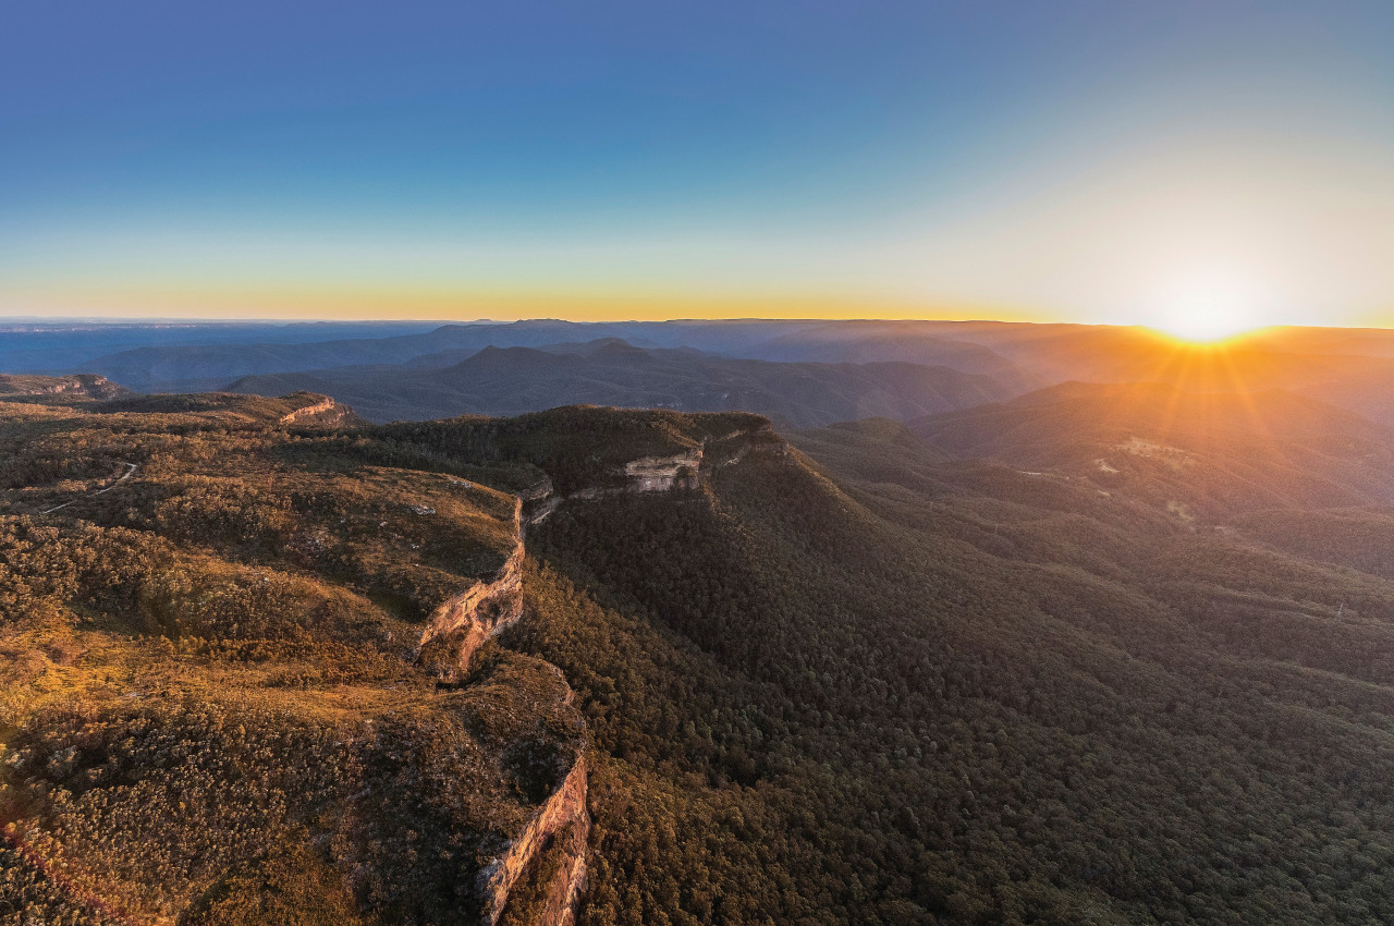
<path fill-rule="evenodd" d="M 0 409 L 18 909 L 1394 911 L 1394 438 L 1354 416 L 42 396 Z"/>

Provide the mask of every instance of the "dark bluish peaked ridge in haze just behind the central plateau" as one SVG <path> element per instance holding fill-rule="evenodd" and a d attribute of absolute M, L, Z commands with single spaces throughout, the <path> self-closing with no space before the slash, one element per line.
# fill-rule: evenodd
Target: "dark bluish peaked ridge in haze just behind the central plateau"
<path fill-rule="evenodd" d="M 850 418 L 914 418 L 997 402 L 1019 377 L 910 363 L 820 364 L 736 360 L 622 339 L 546 349 L 485 347 L 445 368 L 357 367 L 244 377 L 233 392 L 332 395 L 371 420 L 521 414 L 559 404 L 754 411 L 785 427 Z"/>

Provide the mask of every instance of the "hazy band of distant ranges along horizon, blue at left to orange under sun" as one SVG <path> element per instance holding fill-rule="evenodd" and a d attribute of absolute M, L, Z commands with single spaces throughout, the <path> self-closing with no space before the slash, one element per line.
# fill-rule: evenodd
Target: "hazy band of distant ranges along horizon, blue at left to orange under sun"
<path fill-rule="evenodd" d="M 105 353 L 102 336 L 91 324 L 13 325 L 0 370 L 91 372 L 139 392 L 309 389 L 374 420 L 585 400 L 742 409 L 807 427 L 910 420 L 1085 381 L 1282 389 L 1394 425 L 1386 329 L 1274 328 L 1218 347 L 1143 328 L 994 321 L 124 324 L 110 329 L 106 346 L 116 350 Z"/>

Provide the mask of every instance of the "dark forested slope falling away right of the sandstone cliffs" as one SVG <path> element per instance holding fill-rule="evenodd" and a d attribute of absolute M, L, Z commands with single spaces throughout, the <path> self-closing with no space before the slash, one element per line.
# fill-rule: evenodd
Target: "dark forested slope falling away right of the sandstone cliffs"
<path fill-rule="evenodd" d="M 800 438 L 846 488 L 763 455 L 531 534 L 510 639 L 598 746 L 583 922 L 1394 915 L 1394 586 L 860 434 Z"/>

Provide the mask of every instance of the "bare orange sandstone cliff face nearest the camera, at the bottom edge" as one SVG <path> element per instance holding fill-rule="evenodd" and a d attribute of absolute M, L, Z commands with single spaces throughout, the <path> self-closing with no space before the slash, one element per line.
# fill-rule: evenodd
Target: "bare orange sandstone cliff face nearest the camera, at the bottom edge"
<path fill-rule="evenodd" d="M 534 886 L 538 897 L 528 911 L 528 922 L 538 926 L 570 926 L 585 890 L 588 873 L 587 840 L 591 814 L 585 807 L 590 770 L 585 756 L 577 757 L 562 785 L 552 792 L 507 851 L 480 872 L 478 893 L 484 898 L 484 923 L 495 926 L 509 904 L 514 887 L 527 877 L 545 877 L 549 883 Z M 542 866 L 548 852 L 559 865 Z"/>

